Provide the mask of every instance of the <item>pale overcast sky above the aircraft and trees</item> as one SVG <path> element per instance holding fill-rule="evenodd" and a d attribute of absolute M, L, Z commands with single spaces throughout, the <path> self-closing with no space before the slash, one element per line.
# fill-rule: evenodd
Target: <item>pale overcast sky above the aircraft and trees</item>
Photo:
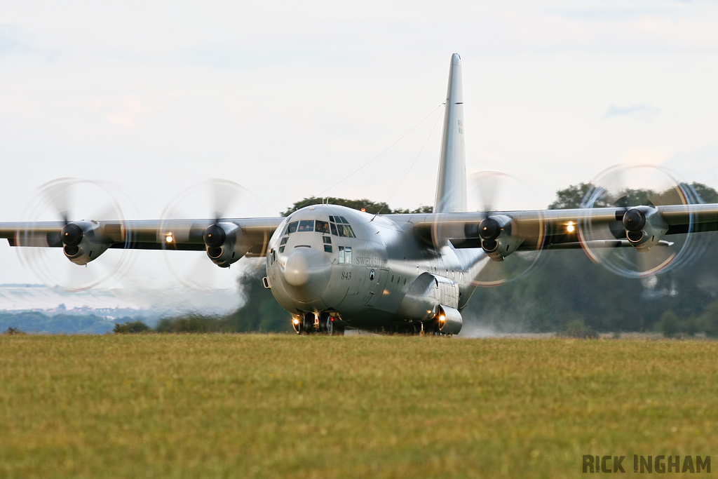
<path fill-rule="evenodd" d="M 428 138 L 390 204 L 430 205 L 452 52 L 469 170 L 528 183 L 525 208 L 622 162 L 718 187 L 714 1 L 6 1 L 2 12 L 0 220 L 22 219 L 35 188 L 66 176 L 118 183 L 139 218 L 207 177 L 241 183 L 275 215 L 426 116 L 326 194 L 386 200 Z M 9 282 L 37 279 L 0 245 Z"/>

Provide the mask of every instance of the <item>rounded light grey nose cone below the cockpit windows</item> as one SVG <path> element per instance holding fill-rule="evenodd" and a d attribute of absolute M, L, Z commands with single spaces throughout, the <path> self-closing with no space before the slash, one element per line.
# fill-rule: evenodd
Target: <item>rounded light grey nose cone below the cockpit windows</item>
<path fill-rule="evenodd" d="M 289 292 L 301 302 L 320 297 L 327 289 L 331 273 L 327 256 L 312 248 L 294 248 L 282 268 Z"/>

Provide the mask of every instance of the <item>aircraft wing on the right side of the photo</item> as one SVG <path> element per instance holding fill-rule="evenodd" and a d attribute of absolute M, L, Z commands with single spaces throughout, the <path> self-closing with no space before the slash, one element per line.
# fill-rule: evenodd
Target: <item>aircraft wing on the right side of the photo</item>
<path fill-rule="evenodd" d="M 718 231 L 718 204 L 664 205 L 638 207 L 655 213 L 666 228 L 666 235 Z M 490 213 L 438 213 L 402 215 L 414 225 L 416 233 L 435 246 L 451 241 L 454 248 L 480 248 L 479 225 L 495 218 L 508 236 L 523 238 L 518 250 L 538 248 L 581 248 L 579 238 L 586 228 L 604 228 L 609 238 L 591 240 L 591 246 L 631 246 L 623 225 L 625 213 L 632 208 L 579 208 L 572 210 L 533 210 Z M 655 218 L 658 220 L 658 217 Z"/>

